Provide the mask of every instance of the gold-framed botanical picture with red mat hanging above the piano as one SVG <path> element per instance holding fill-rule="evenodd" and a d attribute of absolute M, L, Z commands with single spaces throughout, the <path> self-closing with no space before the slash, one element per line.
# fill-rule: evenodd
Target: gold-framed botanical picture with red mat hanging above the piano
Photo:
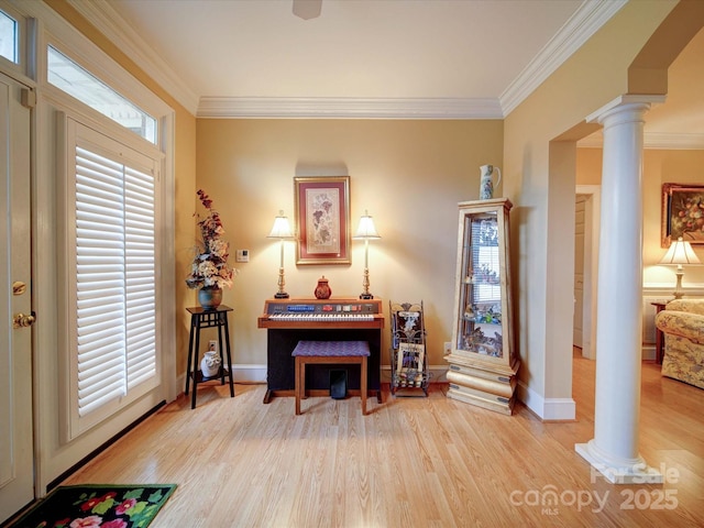
<path fill-rule="evenodd" d="M 294 178 L 296 264 L 350 264 L 350 177 Z"/>

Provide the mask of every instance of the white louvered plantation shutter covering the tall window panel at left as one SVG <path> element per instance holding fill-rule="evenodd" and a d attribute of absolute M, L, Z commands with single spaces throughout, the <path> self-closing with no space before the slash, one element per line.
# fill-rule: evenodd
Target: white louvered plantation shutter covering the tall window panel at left
<path fill-rule="evenodd" d="M 154 175 L 76 145 L 78 415 L 156 375 Z"/>

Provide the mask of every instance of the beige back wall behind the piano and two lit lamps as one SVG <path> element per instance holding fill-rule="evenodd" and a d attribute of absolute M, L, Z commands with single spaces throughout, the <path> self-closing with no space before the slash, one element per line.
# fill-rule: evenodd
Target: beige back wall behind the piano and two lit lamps
<path fill-rule="evenodd" d="M 240 274 L 224 293 L 224 304 L 235 309 L 235 363 L 266 363 L 266 331 L 256 328 L 256 318 L 277 290 L 279 263 L 278 242 L 266 235 L 279 209 L 294 220 L 294 177 L 349 175 L 352 229 L 367 209 L 382 235 L 370 244 L 371 292 L 383 299 L 384 312 L 389 299 L 422 300 L 429 362 L 444 365 L 457 205 L 477 198 L 480 165 L 501 166 L 502 121 L 199 119 L 197 130 L 197 187 L 213 197 L 231 254 L 250 250 L 249 263 L 234 263 Z M 191 245 L 177 248 L 179 263 L 189 258 Z M 296 266 L 295 243 L 287 243 L 286 290 L 311 298 L 324 275 L 333 297 L 358 297 L 363 248 L 352 241 L 351 265 Z M 388 328 L 384 363 L 387 350 Z"/>

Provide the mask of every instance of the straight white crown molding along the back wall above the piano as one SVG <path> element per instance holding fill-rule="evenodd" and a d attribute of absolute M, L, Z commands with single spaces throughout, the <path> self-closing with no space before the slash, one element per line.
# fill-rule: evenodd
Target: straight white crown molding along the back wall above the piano
<path fill-rule="evenodd" d="M 503 119 L 496 99 L 201 97 L 198 118 Z"/>

